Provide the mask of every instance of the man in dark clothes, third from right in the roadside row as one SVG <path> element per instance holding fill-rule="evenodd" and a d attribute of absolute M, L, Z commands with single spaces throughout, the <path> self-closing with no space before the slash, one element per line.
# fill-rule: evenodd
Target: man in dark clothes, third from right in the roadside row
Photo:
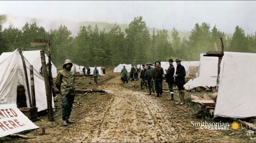
<path fill-rule="evenodd" d="M 155 62 L 156 67 L 154 68 L 153 71 L 153 81 L 155 82 L 155 88 L 157 92 L 156 97 L 160 97 L 160 95 L 163 94 L 163 78 L 164 78 L 164 73 L 163 73 L 163 68 L 160 67 L 160 62 Z"/>

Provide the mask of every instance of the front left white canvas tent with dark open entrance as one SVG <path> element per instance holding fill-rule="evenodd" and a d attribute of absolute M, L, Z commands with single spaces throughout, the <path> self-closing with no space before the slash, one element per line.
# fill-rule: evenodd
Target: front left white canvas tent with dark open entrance
<path fill-rule="evenodd" d="M 29 87 L 30 72 L 29 61 L 24 57 L 26 63 L 26 70 L 28 74 Z M 23 70 L 23 63 L 18 50 L 15 50 L 8 56 L 6 54 L 0 56 L 0 104 L 16 104 L 17 102 L 17 86 L 23 85 L 26 94 L 26 104 L 29 107 L 29 98 L 27 94 L 25 73 Z M 35 99 L 38 112 L 47 109 L 47 98 L 45 91 L 44 78 L 34 68 L 34 82 L 35 82 Z M 31 90 L 31 88 L 29 88 Z M 31 93 L 31 91 L 30 91 Z M 54 102 L 52 98 L 52 107 Z"/>

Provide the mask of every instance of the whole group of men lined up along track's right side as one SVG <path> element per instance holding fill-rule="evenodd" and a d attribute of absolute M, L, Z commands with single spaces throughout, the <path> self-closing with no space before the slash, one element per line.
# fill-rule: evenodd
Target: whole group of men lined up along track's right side
<path fill-rule="evenodd" d="M 163 94 L 163 80 L 166 79 L 166 83 L 168 83 L 169 91 L 171 94 L 168 100 L 174 100 L 173 85 L 176 85 L 178 87 L 179 98 L 180 98 L 180 101 L 178 101 L 176 104 L 183 105 L 184 95 L 185 95 L 183 86 L 185 84 L 186 71 L 185 71 L 185 68 L 181 65 L 181 61 L 182 60 L 180 59 L 175 60 L 177 64 L 176 73 L 175 73 L 175 68 L 173 66 L 174 61 L 172 59 L 169 59 L 169 68 L 168 70 L 166 70 L 166 75 L 164 74 L 163 68 L 160 66 L 161 63 L 159 61 L 154 63 L 155 64 L 154 67 L 152 67 L 153 64 L 151 64 L 150 62 L 145 64 L 146 67 L 143 64 L 143 69 L 141 70 L 141 74 L 140 74 L 141 89 L 143 89 L 143 85 L 144 85 L 149 91 L 148 95 L 151 95 L 152 92 L 155 93 L 156 91 L 157 93 L 156 97 L 161 97 Z M 136 70 L 131 70 L 130 76 L 134 76 L 134 72 L 132 71 L 136 71 Z M 121 79 L 123 83 L 125 83 L 125 81 L 128 83 L 127 73 L 128 72 L 124 66 L 121 71 Z M 155 88 L 155 91 L 154 91 L 154 88 Z"/>

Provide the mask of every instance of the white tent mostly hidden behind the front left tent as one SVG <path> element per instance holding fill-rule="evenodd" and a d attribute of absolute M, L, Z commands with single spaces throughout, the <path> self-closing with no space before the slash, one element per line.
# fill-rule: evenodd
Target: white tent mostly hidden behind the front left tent
<path fill-rule="evenodd" d="M 5 53 L 2 53 L 1 56 L 8 57 L 11 54 L 12 54 L 12 52 L 5 52 Z M 22 51 L 22 54 L 28 60 L 28 62 L 31 65 L 33 65 L 35 70 L 38 71 L 38 73 L 40 73 L 40 69 L 41 69 L 41 66 L 42 66 L 40 50 Z M 48 56 L 45 54 L 46 63 L 48 62 L 48 59 L 49 59 Z M 53 78 L 57 77 L 57 68 L 55 67 L 55 65 L 53 63 L 52 63 L 52 77 Z"/>

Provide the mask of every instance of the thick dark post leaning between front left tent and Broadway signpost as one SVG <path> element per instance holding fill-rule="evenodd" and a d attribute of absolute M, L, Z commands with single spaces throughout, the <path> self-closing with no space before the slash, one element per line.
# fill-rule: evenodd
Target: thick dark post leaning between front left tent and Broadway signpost
<path fill-rule="evenodd" d="M 49 121 L 54 121 L 53 112 L 52 112 L 52 94 L 50 93 L 50 85 L 49 85 L 49 78 L 47 75 L 47 67 L 45 62 L 44 50 L 41 50 L 40 54 L 41 54 L 43 72 L 44 72 L 44 84 L 45 84 L 46 97 L 47 97 L 48 119 Z"/>

